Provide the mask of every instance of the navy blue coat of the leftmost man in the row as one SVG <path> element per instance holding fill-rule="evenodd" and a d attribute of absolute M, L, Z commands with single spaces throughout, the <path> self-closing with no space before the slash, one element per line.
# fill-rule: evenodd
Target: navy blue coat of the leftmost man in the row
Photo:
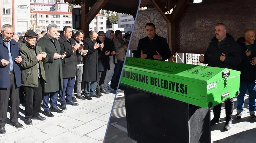
<path fill-rule="evenodd" d="M 9 54 L 12 54 L 13 69 L 15 75 L 15 88 L 21 86 L 21 72 L 19 64 L 15 62 L 15 58 L 19 56 L 19 46 L 14 40 L 11 40 L 11 53 L 8 51 L 8 47 L 4 44 L 2 36 L 0 36 L 0 61 L 2 59 L 10 61 Z M 0 63 L 0 88 L 10 88 L 10 64 L 2 66 Z"/>

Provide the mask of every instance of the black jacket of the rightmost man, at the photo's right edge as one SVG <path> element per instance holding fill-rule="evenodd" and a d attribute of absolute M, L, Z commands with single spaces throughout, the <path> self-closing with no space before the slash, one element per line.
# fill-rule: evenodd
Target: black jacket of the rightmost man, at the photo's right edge
<path fill-rule="evenodd" d="M 243 54 L 242 62 L 238 65 L 238 70 L 241 72 L 241 82 L 255 82 L 256 81 L 256 65 L 251 65 L 251 61 L 256 57 L 256 40 L 251 49 L 251 55 L 247 57 L 245 51 L 247 48 L 244 46 L 244 37 L 237 39 L 237 43 L 241 45 L 241 52 Z"/>

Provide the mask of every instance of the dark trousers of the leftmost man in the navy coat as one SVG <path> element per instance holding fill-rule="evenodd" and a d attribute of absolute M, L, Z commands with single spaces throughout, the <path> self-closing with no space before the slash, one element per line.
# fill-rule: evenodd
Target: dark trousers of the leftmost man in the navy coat
<path fill-rule="evenodd" d="M 19 116 L 19 88 L 15 87 L 14 74 L 10 74 L 10 88 L 0 88 L 0 127 L 6 124 L 8 100 L 11 102 L 10 122 L 18 122 Z"/>

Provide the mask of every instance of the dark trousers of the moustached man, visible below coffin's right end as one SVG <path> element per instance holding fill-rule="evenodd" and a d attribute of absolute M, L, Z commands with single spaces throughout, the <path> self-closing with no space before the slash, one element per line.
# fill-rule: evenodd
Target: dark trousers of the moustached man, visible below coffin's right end
<path fill-rule="evenodd" d="M 220 118 L 221 117 L 221 106 L 222 104 L 218 104 L 213 107 L 213 115 L 214 118 Z M 228 99 L 225 101 L 225 111 L 226 111 L 226 122 L 232 121 L 232 113 L 234 109 L 234 101 L 233 98 Z"/>

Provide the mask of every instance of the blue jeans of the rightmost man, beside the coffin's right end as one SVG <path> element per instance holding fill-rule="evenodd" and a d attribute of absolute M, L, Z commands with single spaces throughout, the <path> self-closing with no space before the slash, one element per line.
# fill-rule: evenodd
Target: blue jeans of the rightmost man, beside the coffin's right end
<path fill-rule="evenodd" d="M 240 82 L 240 94 L 237 96 L 237 113 L 242 113 L 244 108 L 244 96 L 248 90 L 249 93 L 249 111 L 250 115 L 256 111 L 256 82 Z"/>

